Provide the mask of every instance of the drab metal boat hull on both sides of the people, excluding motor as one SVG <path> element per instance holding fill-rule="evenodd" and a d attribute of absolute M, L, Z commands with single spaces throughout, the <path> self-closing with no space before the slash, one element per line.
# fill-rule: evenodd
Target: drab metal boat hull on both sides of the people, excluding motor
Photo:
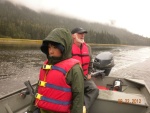
<path fill-rule="evenodd" d="M 150 113 L 150 91 L 144 81 L 120 78 L 122 91 L 114 91 L 109 89 L 115 77 L 92 79 L 100 89 L 90 113 Z M 25 90 L 22 88 L 0 98 L 0 113 L 24 113 L 31 101 L 30 95 L 25 98 L 20 95 Z"/>

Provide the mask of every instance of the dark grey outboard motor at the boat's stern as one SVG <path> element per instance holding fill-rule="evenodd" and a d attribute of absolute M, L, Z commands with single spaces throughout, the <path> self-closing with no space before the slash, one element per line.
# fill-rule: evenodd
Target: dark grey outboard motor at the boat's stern
<path fill-rule="evenodd" d="M 102 74 L 108 76 L 114 66 L 113 54 L 110 52 L 102 52 L 98 54 L 93 62 L 94 72 L 102 71 Z"/>

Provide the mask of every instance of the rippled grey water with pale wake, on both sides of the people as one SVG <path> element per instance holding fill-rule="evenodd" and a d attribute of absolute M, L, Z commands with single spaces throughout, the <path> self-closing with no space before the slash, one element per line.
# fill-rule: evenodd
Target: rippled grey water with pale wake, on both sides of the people
<path fill-rule="evenodd" d="M 115 66 L 109 76 L 143 79 L 150 88 L 150 47 L 92 47 L 93 58 L 104 51 L 113 53 Z M 0 97 L 35 83 L 46 56 L 39 47 L 0 46 Z"/>

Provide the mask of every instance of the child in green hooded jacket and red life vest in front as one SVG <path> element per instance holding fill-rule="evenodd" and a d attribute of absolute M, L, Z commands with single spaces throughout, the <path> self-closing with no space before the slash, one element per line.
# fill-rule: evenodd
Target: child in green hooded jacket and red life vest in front
<path fill-rule="evenodd" d="M 27 113 L 38 108 L 40 113 L 82 113 L 84 75 L 78 60 L 72 58 L 69 30 L 55 28 L 43 40 L 41 51 L 46 54 L 35 97 Z"/>

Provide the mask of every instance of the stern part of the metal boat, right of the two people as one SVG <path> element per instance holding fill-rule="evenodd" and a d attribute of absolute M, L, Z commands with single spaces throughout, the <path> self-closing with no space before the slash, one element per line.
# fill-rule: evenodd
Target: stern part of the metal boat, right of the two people
<path fill-rule="evenodd" d="M 93 78 L 101 89 L 90 113 L 149 113 L 150 92 L 145 82 L 119 79 L 123 83 L 122 91 L 109 90 L 116 80 L 114 77 Z"/>

